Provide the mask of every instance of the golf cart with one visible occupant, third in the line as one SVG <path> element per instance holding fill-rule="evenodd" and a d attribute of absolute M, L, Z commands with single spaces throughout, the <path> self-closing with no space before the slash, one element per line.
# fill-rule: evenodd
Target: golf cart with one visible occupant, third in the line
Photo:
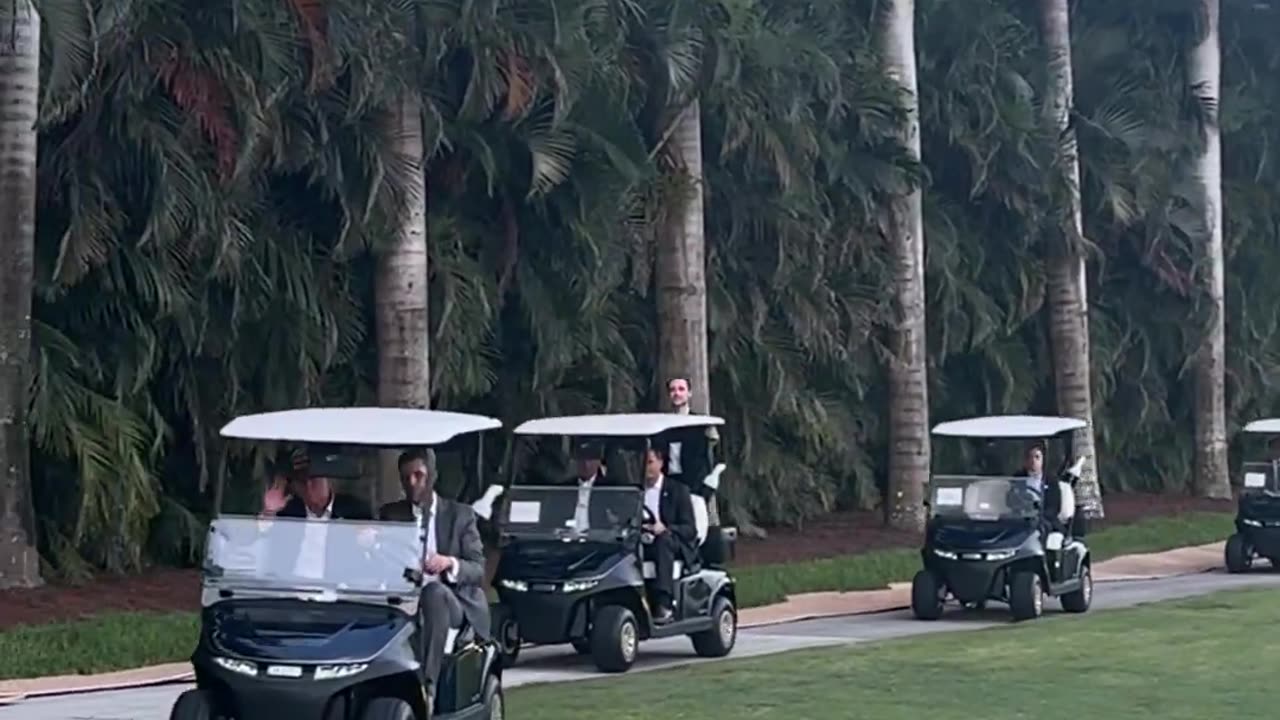
<path fill-rule="evenodd" d="M 1015 620 L 1038 618 L 1043 596 L 1059 597 L 1068 612 L 1084 612 L 1093 600 L 1089 548 L 1074 537 L 1074 492 L 1084 459 L 1065 468 L 1057 480 L 1042 473 L 1044 491 L 1027 477 L 998 468 L 991 456 L 995 441 L 1064 441 L 1070 454 L 1073 430 L 1085 423 L 1074 418 L 1000 415 L 941 423 L 936 437 L 986 441 L 988 473 L 982 475 L 933 475 L 929 484 L 928 524 L 920 557 L 924 568 L 911 582 L 911 612 L 920 620 L 937 620 L 947 597 L 965 607 L 982 609 L 987 601 L 1009 603 Z M 1027 452 L 1032 452 L 1028 450 Z M 1044 448 L 1041 448 L 1042 454 Z M 1005 460 L 1011 457 L 1006 455 Z M 995 462 L 992 462 L 995 460 Z M 992 466 L 997 465 L 997 466 Z M 1060 495 L 1052 525 L 1043 516 L 1042 498 L 1052 489 Z"/>

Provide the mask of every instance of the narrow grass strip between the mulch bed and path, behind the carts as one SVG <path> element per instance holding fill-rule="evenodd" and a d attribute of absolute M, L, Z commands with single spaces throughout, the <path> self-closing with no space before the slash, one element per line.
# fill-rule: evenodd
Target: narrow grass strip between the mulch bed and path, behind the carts
<path fill-rule="evenodd" d="M 1100 560 L 1226 538 L 1231 515 L 1193 512 L 1155 518 L 1088 537 Z M 787 594 L 882 588 L 910 580 L 916 550 L 890 550 L 808 562 L 735 569 L 739 602 L 755 607 Z M 105 673 L 186 660 L 196 642 L 195 612 L 119 612 L 0 632 L 0 680 L 68 673 Z"/>

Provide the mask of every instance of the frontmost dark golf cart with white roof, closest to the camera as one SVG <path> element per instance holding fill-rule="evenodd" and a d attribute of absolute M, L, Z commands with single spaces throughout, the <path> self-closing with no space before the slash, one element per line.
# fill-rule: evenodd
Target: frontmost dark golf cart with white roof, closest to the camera
<path fill-rule="evenodd" d="M 339 492 L 372 477 L 362 460 L 379 450 L 466 451 L 500 425 L 457 413 L 315 407 L 241 416 L 221 436 L 305 446 L 311 469 L 323 464 Z M 364 515 L 362 505 L 352 507 Z M 196 688 L 178 697 L 170 720 L 503 716 L 497 646 L 470 626 L 451 630 L 434 707 L 426 706 L 415 651 L 419 523 L 283 515 L 220 512 L 210 524 L 191 657 Z"/>

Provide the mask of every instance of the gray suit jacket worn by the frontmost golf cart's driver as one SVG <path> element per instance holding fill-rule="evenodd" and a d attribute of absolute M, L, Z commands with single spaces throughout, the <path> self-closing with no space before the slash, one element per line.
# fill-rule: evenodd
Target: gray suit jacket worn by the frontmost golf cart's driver
<path fill-rule="evenodd" d="M 462 606 L 462 614 L 477 635 L 489 637 L 489 601 L 484 594 L 484 543 L 476 525 L 476 514 L 470 505 L 435 496 L 435 551 L 458 561 L 457 582 L 445 587 L 453 591 Z M 388 502 L 378 510 L 378 519 L 392 523 L 412 523 L 413 505 L 408 500 Z"/>

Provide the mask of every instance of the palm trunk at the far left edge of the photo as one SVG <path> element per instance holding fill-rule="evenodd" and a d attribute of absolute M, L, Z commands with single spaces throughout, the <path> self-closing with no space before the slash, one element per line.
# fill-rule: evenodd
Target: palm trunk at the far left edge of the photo
<path fill-rule="evenodd" d="M 40 15 L 0 3 L 0 588 L 41 584 L 27 405 L 36 243 Z"/>

